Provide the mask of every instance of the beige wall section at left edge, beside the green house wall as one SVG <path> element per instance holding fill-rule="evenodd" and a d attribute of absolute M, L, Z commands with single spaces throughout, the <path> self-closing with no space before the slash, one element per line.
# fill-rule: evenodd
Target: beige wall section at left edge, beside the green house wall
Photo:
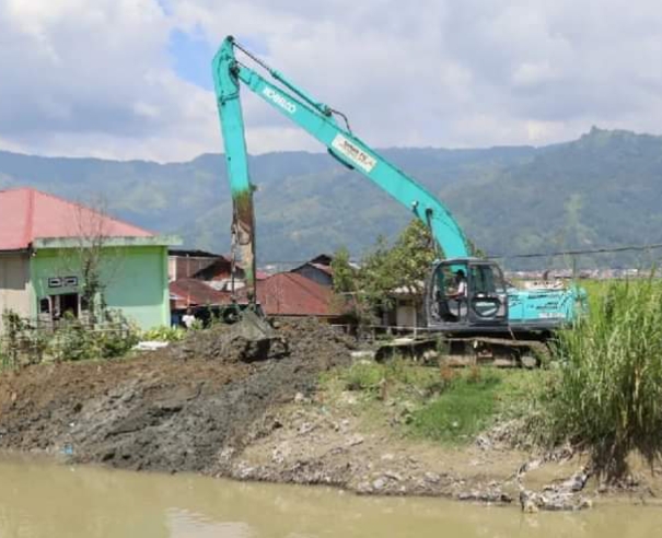
<path fill-rule="evenodd" d="M 21 317 L 32 315 L 27 253 L 0 254 L 0 330 L 4 311 L 13 311 Z"/>

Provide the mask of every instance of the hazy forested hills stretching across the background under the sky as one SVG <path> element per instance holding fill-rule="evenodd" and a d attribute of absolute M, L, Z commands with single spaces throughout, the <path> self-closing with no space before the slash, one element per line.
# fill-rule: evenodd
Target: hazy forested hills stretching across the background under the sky
<path fill-rule="evenodd" d="M 487 253 L 662 242 L 662 137 L 594 128 L 544 148 L 382 154 L 438 195 Z M 0 188 L 33 186 L 82 202 L 101 196 L 116 217 L 223 252 L 232 207 L 224 168 L 222 155 L 211 154 L 158 164 L 0 152 Z M 251 173 L 263 262 L 341 245 L 360 254 L 410 218 L 325 153 L 253 156 Z"/>

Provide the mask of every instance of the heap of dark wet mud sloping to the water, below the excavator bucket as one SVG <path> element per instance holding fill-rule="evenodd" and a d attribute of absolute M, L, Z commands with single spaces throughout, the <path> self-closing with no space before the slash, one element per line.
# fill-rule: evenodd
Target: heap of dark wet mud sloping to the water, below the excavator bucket
<path fill-rule="evenodd" d="M 270 409 L 310 394 L 321 372 L 350 361 L 349 342 L 312 319 L 282 323 L 278 335 L 287 352 L 251 349 L 217 328 L 137 359 L 0 375 L 0 448 L 212 472 Z M 254 361 L 256 353 L 266 360 Z"/>

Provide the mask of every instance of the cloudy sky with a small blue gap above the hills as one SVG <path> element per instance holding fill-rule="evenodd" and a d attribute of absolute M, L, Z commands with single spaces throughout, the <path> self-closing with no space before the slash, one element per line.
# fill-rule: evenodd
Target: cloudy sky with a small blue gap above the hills
<path fill-rule="evenodd" d="M 373 148 L 662 132 L 658 0 L 0 0 L 0 149 L 186 161 L 221 152 L 227 35 Z M 322 151 L 248 91 L 251 153 Z"/>

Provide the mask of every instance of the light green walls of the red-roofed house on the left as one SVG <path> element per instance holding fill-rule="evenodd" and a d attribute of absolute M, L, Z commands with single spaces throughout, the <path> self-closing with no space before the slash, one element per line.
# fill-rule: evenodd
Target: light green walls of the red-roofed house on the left
<path fill-rule="evenodd" d="M 102 259 L 104 299 L 108 307 L 120 309 L 143 329 L 170 325 L 167 247 L 112 247 L 105 249 Z M 42 297 L 80 293 L 80 257 L 76 249 L 37 250 L 32 259 L 31 277 L 35 309 Z M 48 279 L 54 277 L 78 277 L 79 286 L 50 288 Z"/>

